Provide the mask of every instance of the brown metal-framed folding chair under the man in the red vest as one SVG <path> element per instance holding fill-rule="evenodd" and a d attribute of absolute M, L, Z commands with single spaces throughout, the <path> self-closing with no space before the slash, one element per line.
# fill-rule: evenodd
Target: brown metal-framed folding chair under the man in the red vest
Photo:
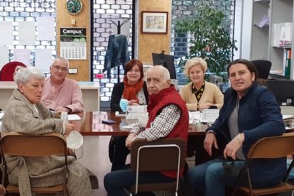
<path fill-rule="evenodd" d="M 156 141 L 135 140 L 131 144 L 131 169 L 136 171 L 136 184 L 130 195 L 138 192 L 173 190 L 178 195 L 180 168 L 185 166 L 187 143 L 183 138 L 163 138 Z M 138 183 L 140 172 L 175 170 L 178 178 L 170 183 Z"/>

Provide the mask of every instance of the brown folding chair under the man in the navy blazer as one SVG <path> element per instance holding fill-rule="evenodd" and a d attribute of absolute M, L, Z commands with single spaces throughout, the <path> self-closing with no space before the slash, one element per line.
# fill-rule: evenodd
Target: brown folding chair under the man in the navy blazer
<path fill-rule="evenodd" d="M 274 136 L 261 138 L 254 143 L 247 153 L 247 160 L 245 163 L 245 169 L 241 173 L 239 182 L 237 183 L 233 195 L 236 195 L 236 191 L 244 192 L 246 195 L 268 195 L 276 194 L 278 192 L 288 192 L 294 190 L 294 186 L 287 183 L 290 170 L 293 168 L 294 160 L 288 168 L 287 175 L 282 183 L 275 187 L 266 188 L 253 188 L 250 180 L 249 165 L 253 158 L 281 158 L 294 153 L 294 133 L 283 134 L 282 136 Z M 247 175 L 249 187 L 239 187 L 241 179 L 244 175 Z"/>

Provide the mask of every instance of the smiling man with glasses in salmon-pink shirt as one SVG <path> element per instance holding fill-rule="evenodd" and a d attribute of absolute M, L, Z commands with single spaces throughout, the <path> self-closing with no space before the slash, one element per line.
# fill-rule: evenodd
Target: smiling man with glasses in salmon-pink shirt
<path fill-rule="evenodd" d="M 45 79 L 41 101 L 49 109 L 74 113 L 83 111 L 82 90 L 75 80 L 66 78 L 70 63 L 55 58 L 50 66 L 50 77 Z"/>

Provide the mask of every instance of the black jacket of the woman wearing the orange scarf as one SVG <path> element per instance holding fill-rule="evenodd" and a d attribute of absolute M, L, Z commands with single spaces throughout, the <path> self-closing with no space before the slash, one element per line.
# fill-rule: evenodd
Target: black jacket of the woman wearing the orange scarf
<path fill-rule="evenodd" d="M 148 97 L 146 82 L 144 82 L 143 84 L 143 91 L 145 94 L 146 102 L 148 104 L 149 97 Z M 111 100 L 110 100 L 111 111 L 121 111 L 121 107 L 119 107 L 119 102 L 121 101 L 123 92 L 124 92 L 124 82 L 116 83 L 114 85 L 114 89 L 112 89 L 112 94 L 111 94 Z"/>

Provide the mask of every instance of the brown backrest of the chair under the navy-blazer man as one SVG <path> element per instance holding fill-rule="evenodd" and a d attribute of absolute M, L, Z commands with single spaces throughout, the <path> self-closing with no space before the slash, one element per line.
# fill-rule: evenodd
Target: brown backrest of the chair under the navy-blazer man
<path fill-rule="evenodd" d="M 294 133 L 261 138 L 251 146 L 248 158 L 279 158 L 294 154 Z"/>

